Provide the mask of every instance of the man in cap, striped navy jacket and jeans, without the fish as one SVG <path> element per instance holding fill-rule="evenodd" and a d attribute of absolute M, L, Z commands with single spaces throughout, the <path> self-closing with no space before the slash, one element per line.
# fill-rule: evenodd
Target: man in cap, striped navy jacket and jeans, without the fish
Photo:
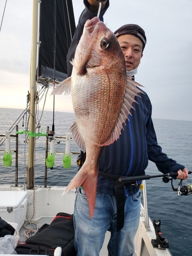
<path fill-rule="evenodd" d="M 97 15 L 99 3 L 84 0 L 82 12 L 68 53 L 68 76 L 71 75 L 72 60 L 83 31 L 84 23 Z M 109 1 L 102 2 L 99 18 L 109 7 Z M 143 49 L 146 44 L 144 30 L 135 24 L 124 25 L 115 31 L 125 58 L 127 74 L 137 73 Z M 139 184 L 124 187 L 117 182 L 120 176 L 144 175 L 148 160 L 153 161 L 160 172 L 178 173 L 177 179 L 186 179 L 188 170 L 185 166 L 167 157 L 157 143 L 152 121 L 152 105 L 147 94 L 136 96 L 138 104 L 133 103 L 126 125 L 119 139 L 103 148 L 99 160 L 99 176 L 96 204 L 93 218 L 89 218 L 87 197 L 82 187 L 78 188 L 75 210 L 75 248 L 79 256 L 98 256 L 106 230 L 111 231 L 108 244 L 109 255 L 133 255 L 134 238 L 139 224 L 140 197 Z M 78 163 L 81 166 L 86 154 L 81 152 Z"/>

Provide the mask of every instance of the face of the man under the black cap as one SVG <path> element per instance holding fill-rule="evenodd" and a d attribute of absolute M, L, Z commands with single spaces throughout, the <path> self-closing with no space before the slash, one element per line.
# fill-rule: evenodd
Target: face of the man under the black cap
<path fill-rule="evenodd" d="M 139 66 L 142 54 L 142 41 L 135 35 L 120 35 L 117 37 L 123 51 L 126 71 L 131 71 Z"/>

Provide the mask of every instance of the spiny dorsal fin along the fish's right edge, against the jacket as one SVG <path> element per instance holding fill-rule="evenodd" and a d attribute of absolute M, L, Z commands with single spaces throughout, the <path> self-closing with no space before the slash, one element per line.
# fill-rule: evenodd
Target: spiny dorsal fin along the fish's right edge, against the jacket
<path fill-rule="evenodd" d="M 115 140 L 119 138 L 121 134 L 121 130 L 123 128 L 123 123 L 125 123 L 126 119 L 128 119 L 128 115 L 132 115 L 130 110 L 134 109 L 132 105 L 133 102 L 137 103 L 137 101 L 135 100 L 135 96 L 141 97 L 138 93 L 143 93 L 137 86 L 141 86 L 141 84 L 132 80 L 132 77 L 127 76 L 126 89 L 125 89 L 124 99 L 122 102 L 122 108 L 119 113 L 119 117 L 118 117 L 115 129 L 113 130 L 109 139 L 100 146 L 110 145 L 111 143 L 113 143 Z"/>

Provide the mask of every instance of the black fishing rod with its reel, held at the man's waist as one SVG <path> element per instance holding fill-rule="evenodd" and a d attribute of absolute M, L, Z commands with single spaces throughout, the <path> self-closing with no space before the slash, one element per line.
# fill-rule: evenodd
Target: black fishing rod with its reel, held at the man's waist
<path fill-rule="evenodd" d="M 188 172 L 188 174 L 191 174 L 192 172 Z M 137 181 L 139 180 L 150 180 L 152 178 L 159 178 L 162 177 L 162 180 L 164 183 L 168 183 L 171 181 L 172 189 L 174 191 L 177 191 L 178 196 L 188 196 L 192 194 L 192 184 L 188 185 L 182 185 L 183 180 L 180 181 L 178 184 L 178 187 L 175 188 L 173 185 L 173 178 L 177 177 L 177 173 L 169 173 L 169 174 L 162 174 L 162 175 L 143 175 L 143 176 L 132 176 L 132 177 L 120 177 L 118 179 L 119 182 L 122 183 L 133 183 L 137 185 Z"/>

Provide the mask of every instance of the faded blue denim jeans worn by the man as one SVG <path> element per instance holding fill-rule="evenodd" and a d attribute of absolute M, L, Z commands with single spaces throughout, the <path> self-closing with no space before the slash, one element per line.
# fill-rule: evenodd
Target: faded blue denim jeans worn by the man
<path fill-rule="evenodd" d="M 93 218 L 89 217 L 87 197 L 79 188 L 75 200 L 74 227 L 77 256 L 99 256 L 105 232 L 111 231 L 108 251 L 111 256 L 132 256 L 135 252 L 134 238 L 140 217 L 140 190 L 126 197 L 124 227 L 116 232 L 115 196 L 97 192 Z"/>

